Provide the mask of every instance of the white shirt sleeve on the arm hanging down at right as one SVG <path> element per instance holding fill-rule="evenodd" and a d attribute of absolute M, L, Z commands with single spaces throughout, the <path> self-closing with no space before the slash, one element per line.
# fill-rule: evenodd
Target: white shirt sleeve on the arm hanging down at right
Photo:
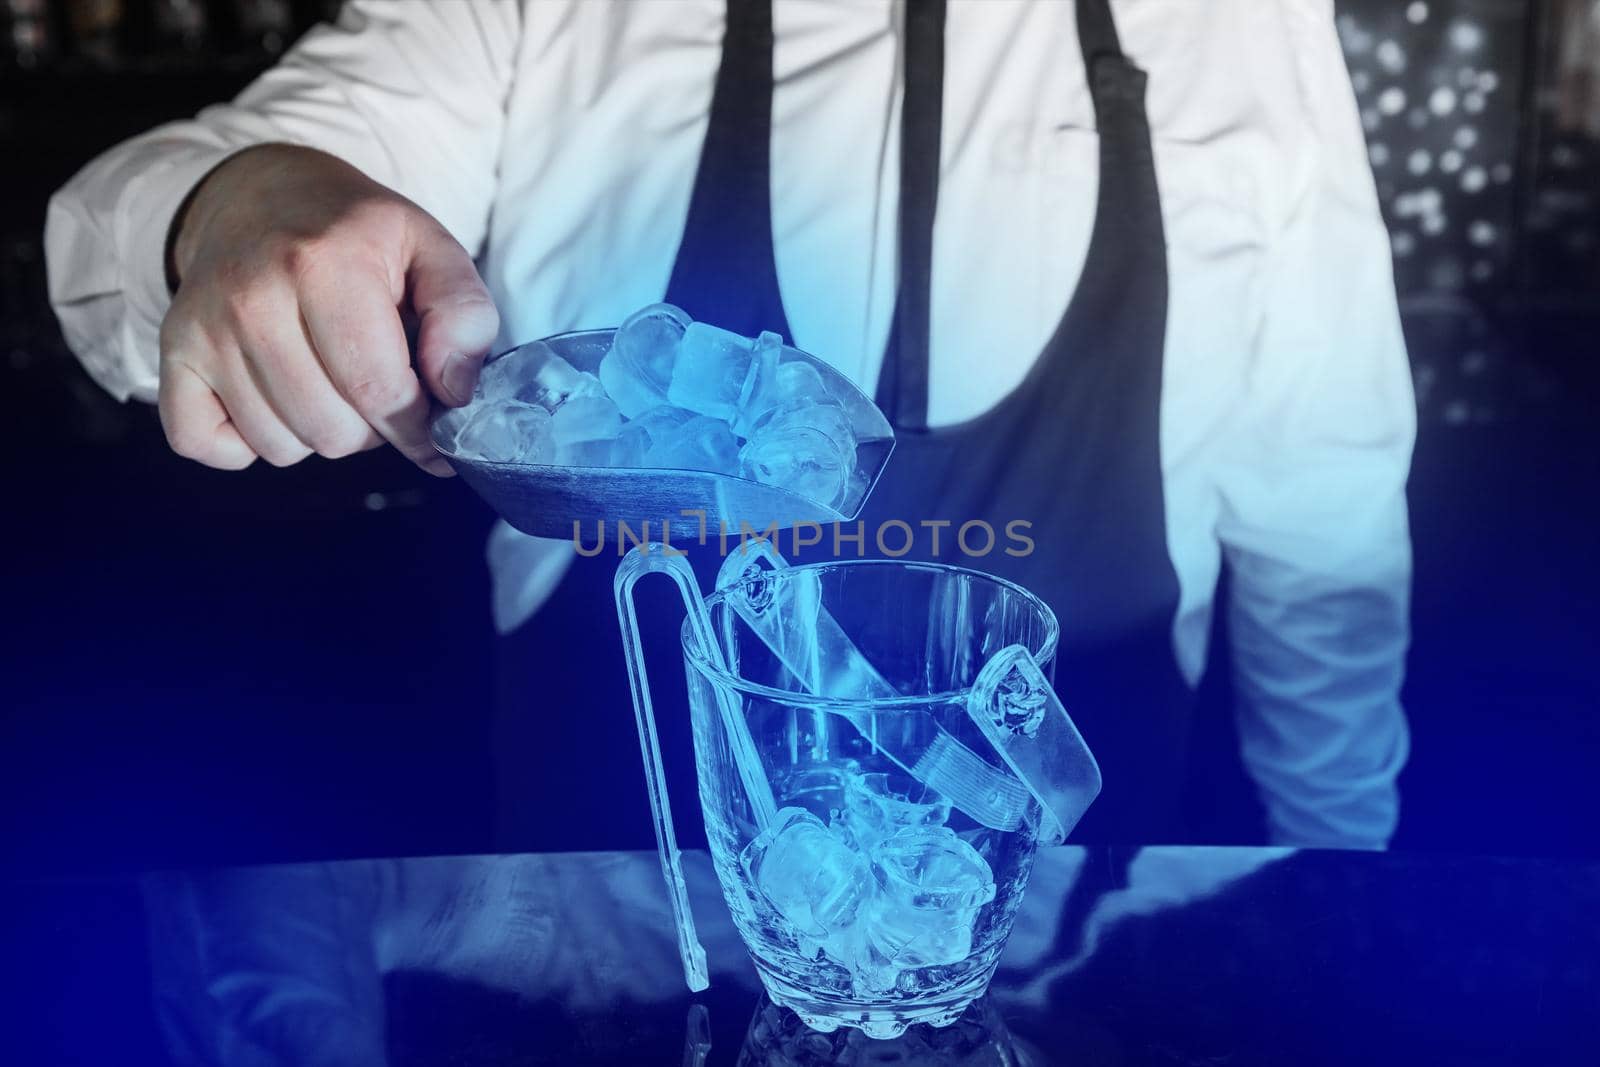
<path fill-rule="evenodd" d="M 1416 408 L 1331 5 L 1285 5 L 1304 104 L 1219 477 L 1240 742 L 1272 838 L 1384 848 L 1408 753 Z"/>

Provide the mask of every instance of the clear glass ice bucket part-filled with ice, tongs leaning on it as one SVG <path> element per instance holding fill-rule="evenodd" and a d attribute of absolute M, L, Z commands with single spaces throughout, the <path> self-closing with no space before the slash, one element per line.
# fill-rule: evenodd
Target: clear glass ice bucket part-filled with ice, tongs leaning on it
<path fill-rule="evenodd" d="M 1056 617 L 1019 585 L 955 566 L 774 566 L 730 560 L 709 598 L 685 590 L 702 603 L 682 643 L 723 897 L 768 993 L 808 1025 L 886 1038 L 954 1022 L 994 976 L 1040 838 L 1061 840 L 1099 790 L 1093 757 L 1040 691 Z M 626 584 L 619 571 L 624 633 Z M 1005 657 L 1026 659 L 1027 678 Z M 634 681 L 637 704 L 642 669 Z M 662 864 L 682 889 L 643 688 Z M 1038 731 L 1046 702 L 1066 725 Z M 1066 744 L 1043 769 L 1026 750 L 1038 741 Z M 686 897 L 675 905 L 702 985 Z"/>

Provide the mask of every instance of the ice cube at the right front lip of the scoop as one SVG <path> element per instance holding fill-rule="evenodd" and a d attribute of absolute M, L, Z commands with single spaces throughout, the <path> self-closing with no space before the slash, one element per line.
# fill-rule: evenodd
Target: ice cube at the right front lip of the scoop
<path fill-rule="evenodd" d="M 771 411 L 739 450 L 746 478 L 834 506 L 856 470 L 856 435 L 834 403 L 795 402 Z"/>

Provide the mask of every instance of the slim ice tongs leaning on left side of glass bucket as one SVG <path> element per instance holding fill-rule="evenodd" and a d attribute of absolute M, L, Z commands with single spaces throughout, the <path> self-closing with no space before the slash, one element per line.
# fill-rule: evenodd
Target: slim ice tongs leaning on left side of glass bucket
<path fill-rule="evenodd" d="M 694 933 L 694 917 L 690 912 L 688 883 L 683 880 L 683 854 L 678 849 L 678 838 L 672 829 L 672 803 L 667 797 L 667 776 L 661 765 L 661 742 L 656 734 L 656 712 L 650 702 L 650 678 L 645 673 L 645 649 L 638 638 L 638 614 L 634 611 L 634 585 L 645 574 L 667 574 L 683 597 L 688 611 L 690 629 L 701 645 L 706 657 L 714 665 L 722 665 L 722 648 L 710 632 L 710 617 L 706 613 L 706 601 L 694 584 L 694 571 L 683 560 L 680 552 L 672 552 L 669 545 L 650 542 L 632 549 L 616 568 L 613 592 L 616 595 L 616 617 L 622 629 L 622 653 L 627 661 L 627 683 L 634 696 L 634 721 L 638 726 L 638 749 L 645 758 L 645 785 L 650 792 L 650 813 L 656 827 L 656 851 L 661 856 L 661 875 L 667 881 L 667 894 L 672 899 L 672 918 L 678 929 L 678 955 L 683 958 L 683 977 L 690 989 L 699 992 L 710 985 L 706 971 L 706 949 L 701 947 Z M 755 757 L 755 744 L 744 721 L 744 715 L 731 701 L 718 693 L 723 726 L 728 729 L 728 741 L 734 750 L 734 763 L 750 798 L 758 827 L 771 822 L 778 805 L 773 800 L 771 785 Z"/>

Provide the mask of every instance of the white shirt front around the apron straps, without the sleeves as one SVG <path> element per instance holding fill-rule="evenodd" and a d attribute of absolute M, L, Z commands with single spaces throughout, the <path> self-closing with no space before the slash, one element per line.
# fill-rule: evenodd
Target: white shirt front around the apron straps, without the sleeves
<path fill-rule="evenodd" d="M 1174 645 L 1192 681 L 1219 568 L 1208 470 L 1246 392 L 1269 235 L 1288 210 L 1274 190 L 1310 136 L 1304 66 L 1338 50 L 1318 3 L 1114 8 L 1123 48 L 1150 72 L 1170 266 L 1160 451 Z M 483 259 L 507 342 L 614 323 L 666 291 L 723 14 L 723 0 L 526 6 Z M 782 304 L 795 344 L 870 392 L 898 278 L 901 10 L 790 0 L 773 21 Z M 950 0 L 933 426 L 990 410 L 1034 365 L 1077 288 L 1098 174 L 1074 5 Z"/>

